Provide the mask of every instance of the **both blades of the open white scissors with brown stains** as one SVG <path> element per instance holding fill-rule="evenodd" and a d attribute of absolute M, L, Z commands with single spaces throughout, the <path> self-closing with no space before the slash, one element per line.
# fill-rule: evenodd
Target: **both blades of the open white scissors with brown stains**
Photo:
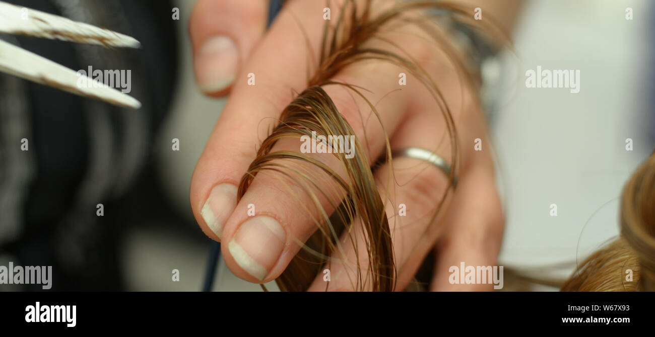
<path fill-rule="evenodd" d="M 128 35 L 3 1 L 0 1 L 0 33 L 99 44 L 105 48 L 141 46 Z M 0 71 L 113 105 L 132 109 L 141 107 L 137 99 L 96 79 L 86 79 L 92 85 L 78 85 L 82 75 L 76 71 L 1 39 Z"/>

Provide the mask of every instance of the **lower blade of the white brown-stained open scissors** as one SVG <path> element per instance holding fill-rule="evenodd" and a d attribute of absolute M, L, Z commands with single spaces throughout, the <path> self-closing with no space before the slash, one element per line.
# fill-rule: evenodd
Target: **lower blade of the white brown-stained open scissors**
<path fill-rule="evenodd" d="M 81 79 L 83 75 L 78 75 L 63 65 L 2 40 L 0 40 L 0 71 L 114 105 L 133 109 L 141 107 L 137 99 L 119 90 L 110 88 L 98 80 Z"/>

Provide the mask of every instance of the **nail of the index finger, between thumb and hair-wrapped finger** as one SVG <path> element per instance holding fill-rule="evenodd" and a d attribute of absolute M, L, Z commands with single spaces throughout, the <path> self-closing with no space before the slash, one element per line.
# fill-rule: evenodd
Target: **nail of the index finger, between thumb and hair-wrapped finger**
<path fill-rule="evenodd" d="M 236 191 L 236 186 L 232 184 L 225 183 L 214 186 L 200 210 L 202 219 L 218 238 L 221 238 L 223 234 L 223 224 L 236 207 Z"/>

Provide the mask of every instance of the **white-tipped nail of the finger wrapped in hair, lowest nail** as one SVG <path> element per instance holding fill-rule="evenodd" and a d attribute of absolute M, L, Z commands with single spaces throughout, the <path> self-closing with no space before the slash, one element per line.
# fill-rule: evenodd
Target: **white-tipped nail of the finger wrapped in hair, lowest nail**
<path fill-rule="evenodd" d="M 285 234 L 271 217 L 258 216 L 241 224 L 228 245 L 236 263 L 262 281 L 284 249 Z"/>

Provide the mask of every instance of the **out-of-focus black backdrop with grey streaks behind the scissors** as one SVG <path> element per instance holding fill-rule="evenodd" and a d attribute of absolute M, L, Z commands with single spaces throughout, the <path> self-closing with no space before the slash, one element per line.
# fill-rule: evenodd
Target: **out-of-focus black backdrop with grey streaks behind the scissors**
<path fill-rule="evenodd" d="M 131 70 L 130 96 L 143 103 L 138 111 L 0 74 L 0 264 L 52 266 L 56 291 L 122 290 L 119 245 L 125 228 L 145 215 L 176 219 L 161 198 L 152 160 L 153 139 L 168 113 L 178 73 L 172 5 L 9 2 L 141 41 L 140 49 L 128 50 L 0 35 L 74 70 Z M 17 146 L 21 139 L 28 139 L 28 151 Z M 103 216 L 96 214 L 98 204 Z"/>

